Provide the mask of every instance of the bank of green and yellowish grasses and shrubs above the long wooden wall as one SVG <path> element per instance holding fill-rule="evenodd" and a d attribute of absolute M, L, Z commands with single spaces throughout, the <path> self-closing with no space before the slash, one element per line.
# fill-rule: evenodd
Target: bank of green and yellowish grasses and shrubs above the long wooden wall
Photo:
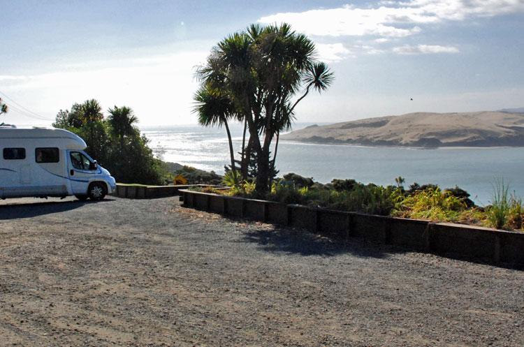
<path fill-rule="evenodd" d="M 397 182 L 397 186 L 378 186 L 353 179 L 333 179 L 330 184 L 319 184 L 289 174 L 275 180 L 265 196 L 256 195 L 250 182 L 233 185 L 228 191 L 212 188 L 204 191 L 340 211 L 524 231 L 522 200 L 509 193 L 509 186 L 502 181 L 494 184 L 492 203 L 486 207 L 476 206 L 470 194 L 457 186 L 441 189 L 435 184 L 412 184 L 405 189 L 401 177 Z"/>

